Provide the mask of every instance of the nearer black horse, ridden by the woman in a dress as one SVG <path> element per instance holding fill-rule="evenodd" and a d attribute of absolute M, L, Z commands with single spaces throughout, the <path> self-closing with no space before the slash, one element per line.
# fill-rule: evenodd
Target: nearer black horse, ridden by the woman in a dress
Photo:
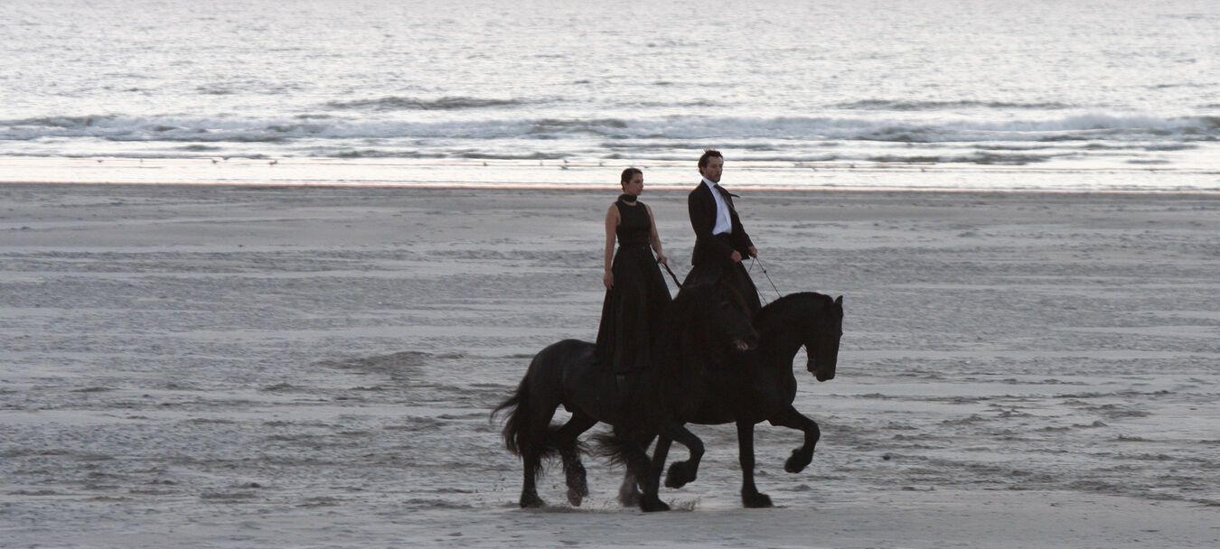
<path fill-rule="evenodd" d="M 694 479 L 703 443 L 683 423 L 708 394 L 703 373 L 709 365 L 752 348 L 758 334 L 741 295 L 723 283 L 687 288 L 670 303 L 662 318 L 650 349 L 653 368 L 636 376 L 626 392 L 614 373 L 597 366 L 592 343 L 565 339 L 538 353 L 516 393 L 492 412 L 493 418 L 509 412 L 503 434 L 509 451 L 523 460 L 522 508 L 544 505 L 536 477 L 543 459 L 555 453 L 564 461 L 567 499 L 581 504 L 588 487 L 577 437 L 599 421 L 614 426 L 616 439 L 623 442 L 621 459 L 628 475 L 642 479 L 643 494 L 636 501 L 642 510 L 669 509 L 656 495 L 664 461 L 650 464 L 645 453 L 653 437 L 687 447 L 695 465 L 689 477 L 675 482 Z M 572 417 L 556 428 L 550 421 L 560 405 Z"/>

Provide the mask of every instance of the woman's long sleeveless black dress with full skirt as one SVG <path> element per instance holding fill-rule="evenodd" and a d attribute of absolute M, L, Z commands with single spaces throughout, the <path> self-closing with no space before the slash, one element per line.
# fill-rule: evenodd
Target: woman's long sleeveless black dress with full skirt
<path fill-rule="evenodd" d="M 649 245 L 653 223 L 644 203 L 615 203 L 619 250 L 610 264 L 614 288 L 606 290 L 598 328 L 597 356 L 603 368 L 622 375 L 649 366 L 649 348 L 670 288 Z"/>

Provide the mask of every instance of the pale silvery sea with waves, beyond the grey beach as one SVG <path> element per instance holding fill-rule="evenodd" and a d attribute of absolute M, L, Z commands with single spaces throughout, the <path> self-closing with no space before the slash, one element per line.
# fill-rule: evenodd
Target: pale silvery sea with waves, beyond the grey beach
<path fill-rule="evenodd" d="M 5 0 L 0 181 L 687 185 L 715 148 L 739 187 L 1216 192 L 1218 37 L 1210 0 Z"/>

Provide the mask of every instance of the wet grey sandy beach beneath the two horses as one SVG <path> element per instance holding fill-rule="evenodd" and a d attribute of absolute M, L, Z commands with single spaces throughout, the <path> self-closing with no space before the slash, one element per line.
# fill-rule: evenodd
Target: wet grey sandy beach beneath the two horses
<path fill-rule="evenodd" d="M 518 509 L 488 414 L 593 339 L 616 195 L 0 184 L 0 547 L 1220 547 L 1216 194 L 743 193 L 764 301 L 844 299 L 813 465 L 760 426 L 742 509 L 694 426 L 675 511 L 592 456 Z"/>

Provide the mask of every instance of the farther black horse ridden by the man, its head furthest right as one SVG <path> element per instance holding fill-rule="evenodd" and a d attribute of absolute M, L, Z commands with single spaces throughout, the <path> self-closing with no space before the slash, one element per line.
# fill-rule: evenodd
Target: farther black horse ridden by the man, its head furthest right
<path fill-rule="evenodd" d="M 843 336 L 843 296 L 831 299 L 811 292 L 786 295 L 755 315 L 754 328 L 759 332 L 758 349 L 747 353 L 731 367 L 708 371 L 705 384 L 711 394 L 684 418 L 699 425 L 737 425 L 742 503 L 747 508 L 769 508 L 771 498 L 754 486 L 754 425 L 770 421 L 773 426 L 804 432 L 804 444 L 793 450 L 784 462 L 784 471 L 800 472 L 813 461 L 821 431 L 814 420 L 792 406 L 797 395 L 792 361 L 797 351 L 805 348 L 809 372 L 820 382 L 834 378 L 839 338 Z M 609 438 L 601 443 L 611 454 L 621 451 L 621 442 Z M 658 440 L 653 453 L 654 468 L 664 466 L 670 444 L 664 434 Z M 673 464 L 665 486 L 678 488 L 686 484 L 692 478 L 686 467 L 686 464 Z M 634 473 L 628 470 L 619 490 L 623 505 L 631 505 L 639 497 L 636 484 Z"/>

